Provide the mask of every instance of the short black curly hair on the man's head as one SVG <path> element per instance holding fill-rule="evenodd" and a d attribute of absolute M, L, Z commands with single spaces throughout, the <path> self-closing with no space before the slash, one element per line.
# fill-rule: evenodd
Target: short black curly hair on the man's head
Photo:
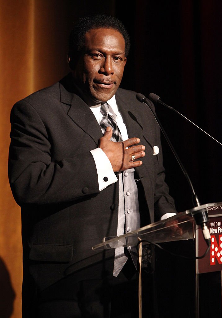
<path fill-rule="evenodd" d="M 79 54 L 84 46 L 84 36 L 91 29 L 114 29 L 122 34 L 125 41 L 125 56 L 129 54 L 130 37 L 123 23 L 116 17 L 111 17 L 106 14 L 98 14 L 95 16 L 80 18 L 77 24 L 74 25 L 69 38 L 69 56 Z"/>

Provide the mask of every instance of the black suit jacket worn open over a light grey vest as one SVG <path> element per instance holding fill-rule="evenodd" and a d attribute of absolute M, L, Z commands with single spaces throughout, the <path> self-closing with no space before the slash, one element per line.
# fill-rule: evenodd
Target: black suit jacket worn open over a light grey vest
<path fill-rule="evenodd" d="M 175 212 L 164 182 L 159 128 L 135 92 L 119 88 L 115 96 L 129 138 L 140 138 L 146 147 L 136 171 L 148 205 L 145 213 L 153 222 L 154 213 L 159 219 Z M 16 103 L 11 125 L 9 179 L 22 210 L 23 287 L 34 284 L 43 290 L 113 254 L 94 252 L 92 246 L 117 234 L 118 183 L 99 192 L 90 150 L 102 132 L 71 86 L 71 75 Z M 160 149 L 157 156 L 153 146 Z"/>

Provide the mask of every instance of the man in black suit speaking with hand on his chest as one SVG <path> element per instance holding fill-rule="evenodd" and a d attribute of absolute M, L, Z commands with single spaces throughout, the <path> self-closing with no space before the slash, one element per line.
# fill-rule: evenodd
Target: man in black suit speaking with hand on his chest
<path fill-rule="evenodd" d="M 118 88 L 129 45 L 117 19 L 80 19 L 70 37 L 72 72 L 12 109 L 9 179 L 22 210 L 23 317 L 137 315 L 133 249 L 92 250 L 105 236 L 175 213 L 156 121 L 135 92 Z M 119 142 L 100 127 L 106 102 Z"/>

